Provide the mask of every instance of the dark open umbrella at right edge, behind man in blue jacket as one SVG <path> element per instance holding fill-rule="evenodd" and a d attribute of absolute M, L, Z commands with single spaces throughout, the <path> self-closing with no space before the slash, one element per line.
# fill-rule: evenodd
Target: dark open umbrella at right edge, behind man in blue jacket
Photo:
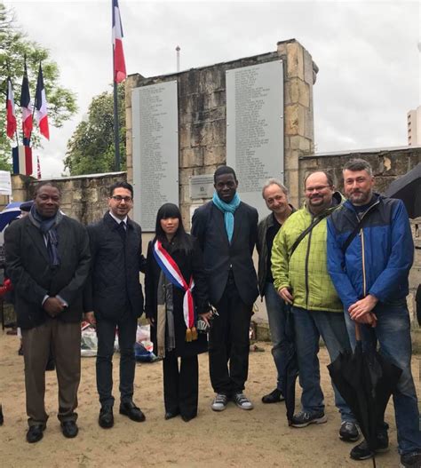
<path fill-rule="evenodd" d="M 385 195 L 401 199 L 405 203 L 409 218 L 421 216 L 421 163 L 401 178 L 393 180 Z"/>

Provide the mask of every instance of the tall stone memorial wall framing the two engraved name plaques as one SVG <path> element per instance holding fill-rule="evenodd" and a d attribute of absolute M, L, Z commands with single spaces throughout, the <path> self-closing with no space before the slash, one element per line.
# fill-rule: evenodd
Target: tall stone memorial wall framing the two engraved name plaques
<path fill-rule="evenodd" d="M 210 67 L 151 78 L 129 76 L 126 81 L 128 179 L 132 180 L 131 89 L 176 79 L 179 94 L 179 200 L 184 223 L 190 226 L 192 200 L 189 178 L 212 174 L 218 166 L 226 163 L 226 70 L 278 59 L 284 62 L 285 181 L 290 186 L 292 202 L 297 202 L 298 158 L 312 153 L 314 147 L 313 84 L 317 67 L 309 52 L 295 39 L 278 43 L 276 52 Z M 279 174 L 274 176 L 279 177 Z"/>

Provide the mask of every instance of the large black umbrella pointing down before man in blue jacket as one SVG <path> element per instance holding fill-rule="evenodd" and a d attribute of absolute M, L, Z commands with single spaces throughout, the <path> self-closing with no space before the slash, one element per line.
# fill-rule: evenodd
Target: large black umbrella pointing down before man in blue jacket
<path fill-rule="evenodd" d="M 362 435 L 373 452 L 377 429 L 385 425 L 385 408 L 401 377 L 401 369 L 376 351 L 362 351 L 359 325 L 355 325 L 353 353 L 340 353 L 328 366 L 332 382 L 353 411 Z M 373 458 L 373 465 L 376 462 Z"/>

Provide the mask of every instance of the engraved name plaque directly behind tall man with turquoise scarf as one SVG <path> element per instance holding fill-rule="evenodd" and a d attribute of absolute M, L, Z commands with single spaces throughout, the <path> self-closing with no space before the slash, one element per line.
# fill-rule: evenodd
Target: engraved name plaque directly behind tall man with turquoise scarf
<path fill-rule="evenodd" d="M 283 181 L 282 60 L 226 71 L 226 164 L 242 201 L 264 218 L 262 186 L 267 178 Z"/>

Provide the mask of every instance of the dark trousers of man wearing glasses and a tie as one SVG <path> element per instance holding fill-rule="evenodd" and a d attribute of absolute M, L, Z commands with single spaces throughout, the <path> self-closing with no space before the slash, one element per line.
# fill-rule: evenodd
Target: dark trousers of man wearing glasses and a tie
<path fill-rule="evenodd" d="M 136 360 L 134 344 L 138 319 L 127 313 L 117 321 L 97 320 L 97 389 L 101 406 L 113 406 L 113 354 L 115 329 L 118 329 L 120 346 L 120 401 L 129 402 L 133 398 L 134 371 Z"/>

